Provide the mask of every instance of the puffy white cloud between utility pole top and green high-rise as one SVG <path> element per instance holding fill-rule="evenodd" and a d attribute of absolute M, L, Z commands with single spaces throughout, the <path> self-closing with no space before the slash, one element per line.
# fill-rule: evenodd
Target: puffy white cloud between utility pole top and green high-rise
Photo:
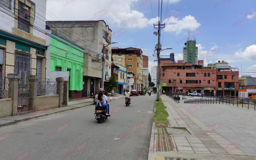
<path fill-rule="evenodd" d="M 183 29 L 188 29 L 188 28 L 196 29 L 200 25 L 201 24 L 197 22 L 195 17 L 189 15 L 184 17 L 182 20 L 178 20 L 178 18 L 167 20 L 164 31 L 176 32 L 176 34 L 179 34 Z"/>

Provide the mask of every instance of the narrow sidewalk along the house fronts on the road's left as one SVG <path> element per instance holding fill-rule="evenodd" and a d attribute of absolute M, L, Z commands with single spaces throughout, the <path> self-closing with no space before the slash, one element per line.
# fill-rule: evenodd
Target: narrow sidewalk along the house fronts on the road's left
<path fill-rule="evenodd" d="M 123 98 L 123 97 L 114 97 L 114 96 L 111 96 L 111 97 L 113 98 L 112 100 Z M 42 112 L 36 111 L 36 112 L 29 112 L 22 115 L 3 117 L 3 118 L 0 118 L 0 127 L 5 125 L 15 124 L 18 122 L 26 121 L 26 120 L 41 117 L 41 116 L 51 115 L 55 113 L 68 111 L 71 109 L 89 106 L 92 104 L 93 104 L 93 99 L 89 98 L 84 100 L 71 101 L 69 102 L 69 106 L 66 106 L 66 107 L 47 109 L 47 110 L 43 110 Z"/>

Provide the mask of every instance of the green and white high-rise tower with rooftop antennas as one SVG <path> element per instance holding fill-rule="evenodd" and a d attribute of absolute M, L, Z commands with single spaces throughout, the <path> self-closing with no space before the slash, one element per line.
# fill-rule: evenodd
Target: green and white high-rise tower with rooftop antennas
<path fill-rule="evenodd" d="M 196 40 L 187 41 L 185 47 L 183 47 L 183 61 L 184 63 L 192 63 L 197 65 L 198 60 L 198 48 L 196 47 Z"/>

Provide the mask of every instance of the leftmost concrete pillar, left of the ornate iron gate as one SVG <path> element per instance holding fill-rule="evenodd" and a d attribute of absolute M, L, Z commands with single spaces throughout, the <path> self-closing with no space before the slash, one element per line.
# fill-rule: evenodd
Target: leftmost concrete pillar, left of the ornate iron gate
<path fill-rule="evenodd" d="M 12 98 L 12 116 L 17 115 L 17 106 L 18 106 L 18 88 L 19 88 L 19 74 L 7 74 L 11 86 L 11 98 Z"/>

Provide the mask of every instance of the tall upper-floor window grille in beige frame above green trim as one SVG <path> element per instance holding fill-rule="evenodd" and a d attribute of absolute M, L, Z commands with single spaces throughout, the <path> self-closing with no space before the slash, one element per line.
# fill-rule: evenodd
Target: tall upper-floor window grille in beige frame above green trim
<path fill-rule="evenodd" d="M 19 1 L 18 6 L 18 29 L 29 33 L 30 10 L 28 6 Z"/>

